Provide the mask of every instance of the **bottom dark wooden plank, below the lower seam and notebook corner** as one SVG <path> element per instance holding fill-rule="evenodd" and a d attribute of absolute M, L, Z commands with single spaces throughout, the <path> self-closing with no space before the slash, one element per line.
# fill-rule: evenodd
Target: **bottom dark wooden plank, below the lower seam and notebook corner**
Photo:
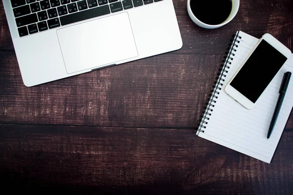
<path fill-rule="evenodd" d="M 10 190 L 19 185 L 79 193 L 263 195 L 293 190 L 293 132 L 284 133 L 271 164 L 188 129 L 1 124 L 0 140 L 0 177 Z"/>

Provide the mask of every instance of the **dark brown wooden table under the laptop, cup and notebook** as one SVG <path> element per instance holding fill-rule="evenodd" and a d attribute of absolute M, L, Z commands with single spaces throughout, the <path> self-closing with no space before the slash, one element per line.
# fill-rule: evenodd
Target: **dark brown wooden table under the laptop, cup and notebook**
<path fill-rule="evenodd" d="M 0 3 L 2 189 L 292 194 L 293 116 L 271 164 L 194 129 L 233 33 L 271 33 L 293 50 L 293 1 L 241 0 L 236 17 L 213 30 L 192 23 L 186 0 L 174 6 L 182 49 L 28 88 Z"/>

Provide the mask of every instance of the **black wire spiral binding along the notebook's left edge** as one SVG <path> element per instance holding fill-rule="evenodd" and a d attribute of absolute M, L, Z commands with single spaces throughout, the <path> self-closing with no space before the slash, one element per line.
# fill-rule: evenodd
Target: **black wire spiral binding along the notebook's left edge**
<path fill-rule="evenodd" d="M 219 69 L 219 73 L 217 74 L 218 77 L 216 78 L 216 81 L 214 82 L 214 85 L 212 86 L 213 89 L 211 90 L 211 94 L 209 94 L 208 102 L 206 103 L 205 111 L 202 114 L 202 119 L 200 123 L 198 124 L 196 134 L 198 135 L 199 132 L 204 133 L 206 125 L 209 122 L 209 116 L 211 116 L 214 104 L 216 103 L 216 99 L 218 98 L 218 95 L 220 94 L 220 90 L 223 87 L 223 83 L 225 81 L 226 74 L 229 71 L 231 61 L 233 60 L 233 57 L 235 56 L 235 53 L 237 51 L 238 43 L 240 43 L 241 37 L 237 34 L 232 35 L 232 39 L 230 40 L 229 47 L 227 48 L 226 56 L 224 57 L 223 64 L 221 64 L 221 68 Z"/>

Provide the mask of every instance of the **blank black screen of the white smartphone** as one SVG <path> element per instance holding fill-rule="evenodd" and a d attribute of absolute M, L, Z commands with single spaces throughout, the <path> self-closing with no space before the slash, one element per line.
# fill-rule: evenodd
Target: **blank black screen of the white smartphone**
<path fill-rule="evenodd" d="M 283 54 L 263 39 L 230 85 L 255 103 L 286 60 Z"/>

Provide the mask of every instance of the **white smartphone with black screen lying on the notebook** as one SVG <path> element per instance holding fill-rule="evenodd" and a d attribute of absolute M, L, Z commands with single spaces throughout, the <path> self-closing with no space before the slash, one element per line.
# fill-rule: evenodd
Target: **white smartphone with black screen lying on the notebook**
<path fill-rule="evenodd" d="M 245 108 L 253 108 L 291 54 L 272 35 L 264 34 L 230 79 L 225 92 Z"/>

